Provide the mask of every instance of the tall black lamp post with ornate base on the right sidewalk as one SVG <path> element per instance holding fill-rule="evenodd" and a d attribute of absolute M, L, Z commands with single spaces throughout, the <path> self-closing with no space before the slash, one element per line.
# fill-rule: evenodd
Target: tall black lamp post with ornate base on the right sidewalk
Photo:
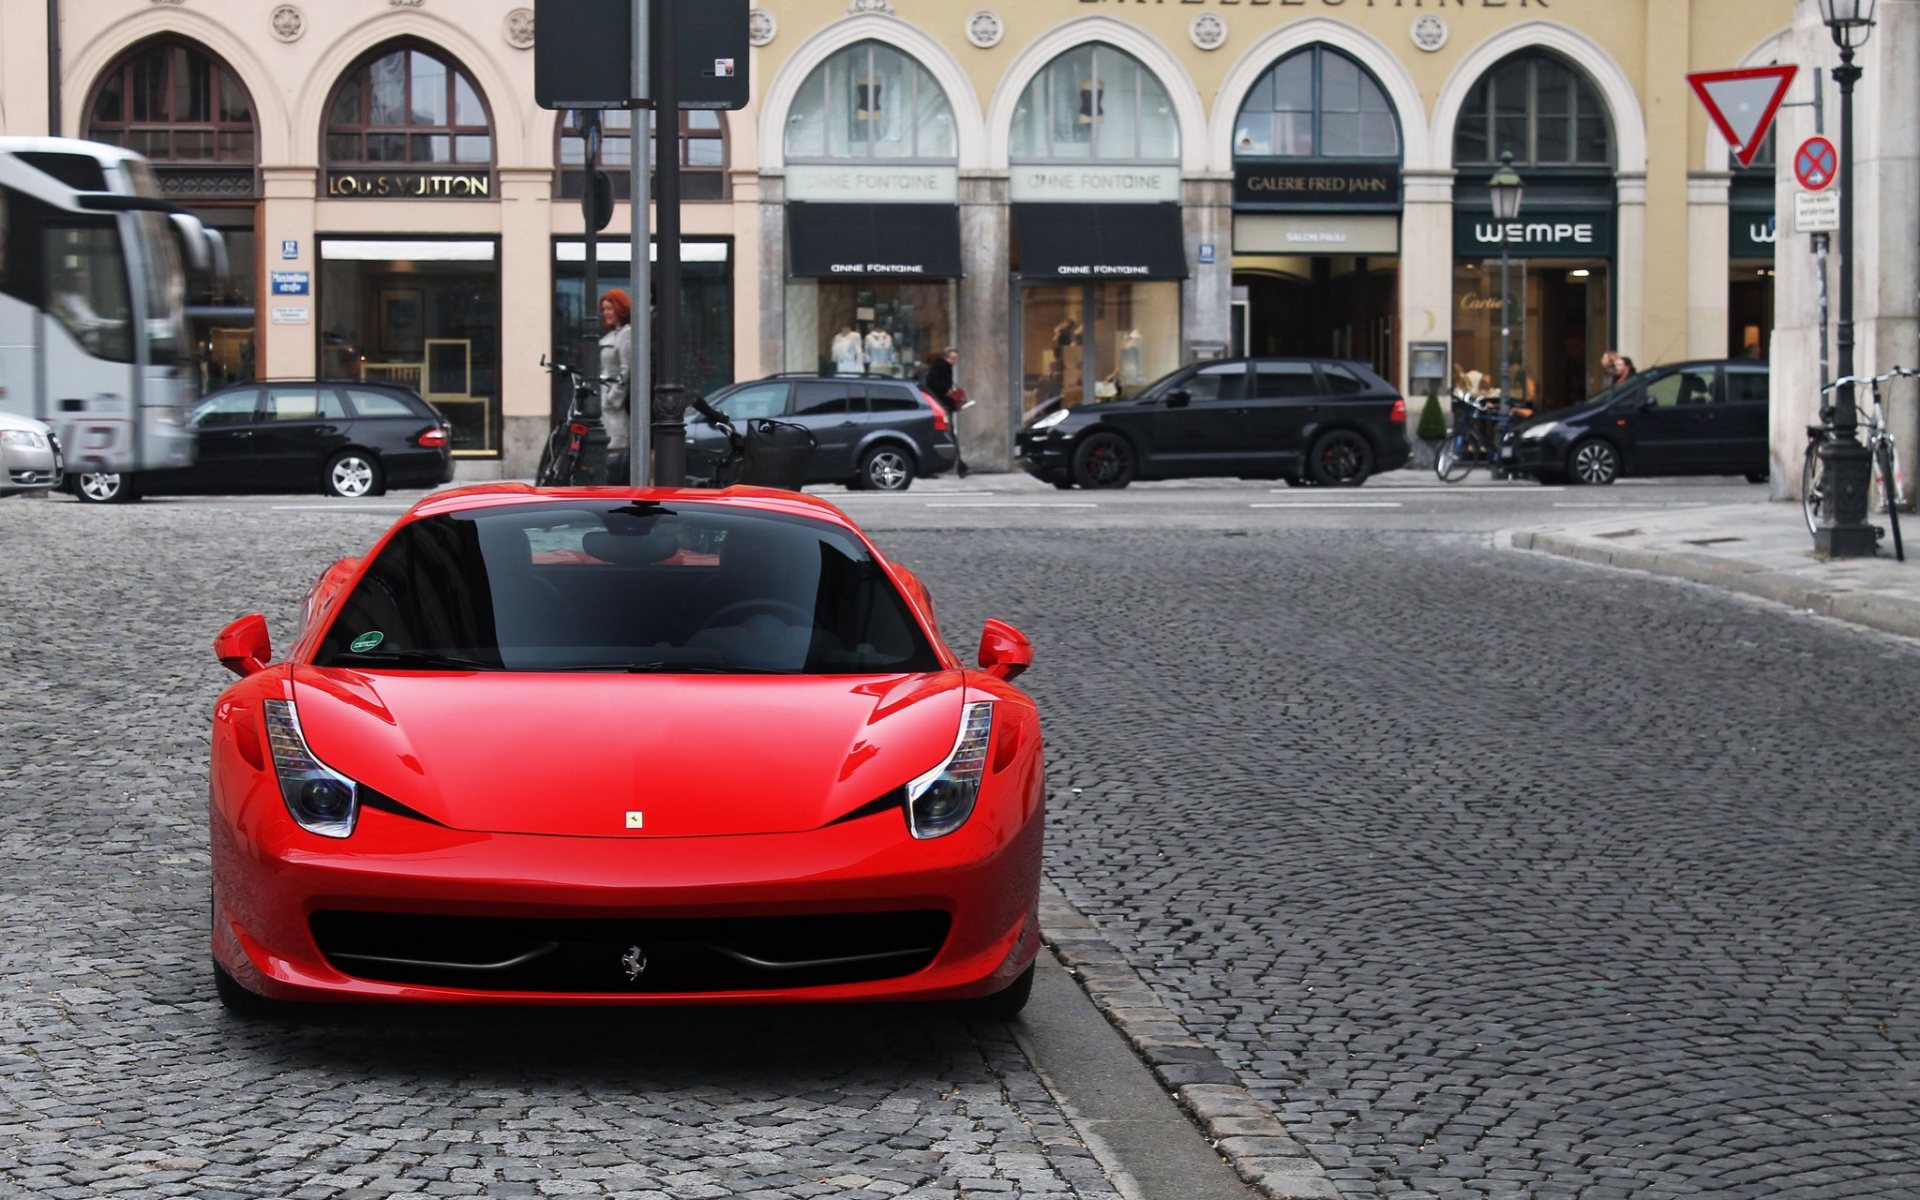
<path fill-rule="evenodd" d="M 1874 0 L 1820 0 L 1820 19 L 1839 46 L 1839 328 L 1834 357 L 1839 378 L 1853 374 L 1853 84 L 1860 67 L 1853 52 L 1874 33 Z M 1853 384 L 1834 394 L 1834 436 L 1820 444 L 1820 468 L 1828 480 L 1814 551 L 1830 559 L 1864 559 L 1874 553 L 1874 528 L 1866 524 L 1866 492 L 1872 484 L 1872 451 L 1860 445 Z"/>

